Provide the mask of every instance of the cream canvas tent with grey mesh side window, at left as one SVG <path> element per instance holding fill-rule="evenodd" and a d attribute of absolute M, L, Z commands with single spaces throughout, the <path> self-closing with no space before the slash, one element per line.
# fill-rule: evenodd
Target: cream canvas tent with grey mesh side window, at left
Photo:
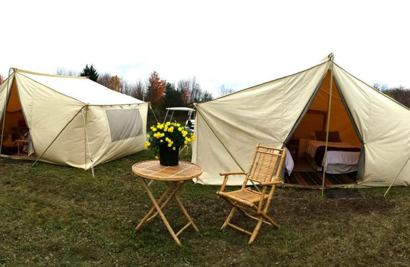
<path fill-rule="evenodd" d="M 12 69 L 0 85 L 5 133 L 24 116 L 33 159 L 84 169 L 145 149 L 148 105 L 85 77 Z"/>

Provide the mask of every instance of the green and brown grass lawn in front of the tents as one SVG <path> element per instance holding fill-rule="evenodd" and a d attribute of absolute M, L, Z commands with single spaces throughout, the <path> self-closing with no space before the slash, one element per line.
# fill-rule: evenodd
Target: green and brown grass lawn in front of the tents
<path fill-rule="evenodd" d="M 183 155 L 189 158 L 190 155 Z M 322 199 L 318 190 L 279 188 L 263 225 L 248 235 L 220 226 L 229 206 L 218 187 L 188 182 L 180 197 L 199 227 L 174 243 L 159 218 L 135 233 L 151 202 L 131 172 L 138 154 L 91 171 L 2 159 L 0 266 L 409 266 L 410 194 L 405 187 L 362 189 L 363 200 Z M 18 165 L 17 165 L 18 164 Z M 155 194 L 165 185 L 151 185 Z M 166 216 L 186 223 L 175 203 Z M 252 229 L 240 214 L 234 222 Z"/>

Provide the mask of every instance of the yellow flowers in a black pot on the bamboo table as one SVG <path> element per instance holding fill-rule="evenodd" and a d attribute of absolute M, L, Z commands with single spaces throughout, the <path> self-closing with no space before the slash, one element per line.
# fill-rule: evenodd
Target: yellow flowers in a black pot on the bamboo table
<path fill-rule="evenodd" d="M 179 123 L 159 123 L 151 126 L 146 147 L 159 150 L 159 163 L 163 166 L 176 166 L 179 161 L 179 149 L 187 147 L 195 140 L 188 127 Z"/>

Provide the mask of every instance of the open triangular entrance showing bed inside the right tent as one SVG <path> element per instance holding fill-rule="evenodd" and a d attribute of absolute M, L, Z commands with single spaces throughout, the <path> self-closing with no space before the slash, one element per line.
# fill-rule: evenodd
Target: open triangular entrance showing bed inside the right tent
<path fill-rule="evenodd" d="M 326 166 L 325 186 L 337 187 L 357 180 L 362 143 L 335 81 L 329 110 L 330 83 L 331 72 L 328 71 L 285 144 L 294 162 L 293 171 L 286 178 L 290 185 L 320 187 L 323 166 Z M 329 141 L 325 156 L 328 116 Z"/>

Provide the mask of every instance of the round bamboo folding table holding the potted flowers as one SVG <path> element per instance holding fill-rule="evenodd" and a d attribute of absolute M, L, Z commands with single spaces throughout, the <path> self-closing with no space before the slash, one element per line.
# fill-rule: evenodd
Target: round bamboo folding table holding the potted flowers
<path fill-rule="evenodd" d="M 177 194 L 185 181 L 197 178 L 202 174 L 201 167 L 187 161 L 179 161 L 179 164 L 177 166 L 162 166 L 159 164 L 159 160 L 148 160 L 134 164 L 132 166 L 132 171 L 135 175 L 141 178 L 142 185 L 147 190 L 148 196 L 150 197 L 154 205 L 147 213 L 147 215 L 142 218 L 141 222 L 135 227 L 135 231 L 138 231 L 138 229 L 141 228 L 142 225 L 144 225 L 146 222 L 151 221 L 159 215 L 163 223 L 167 227 L 168 232 L 170 232 L 172 238 L 178 245 L 181 245 L 178 236 L 189 226 L 192 226 L 194 230 L 198 232 L 198 227 L 196 227 L 194 221 L 191 219 L 187 210 L 182 205 L 182 202 Z M 165 192 L 163 192 L 158 200 L 156 200 L 154 195 L 152 194 L 146 179 L 165 181 L 168 183 L 167 189 L 165 190 Z M 183 226 L 181 230 L 179 230 L 176 234 L 174 230 L 172 230 L 172 227 L 169 224 L 167 218 L 165 218 L 165 215 L 163 215 L 162 213 L 163 209 L 166 208 L 171 199 L 176 200 L 183 215 L 188 220 L 188 223 Z M 154 212 L 155 214 L 153 215 Z"/>

